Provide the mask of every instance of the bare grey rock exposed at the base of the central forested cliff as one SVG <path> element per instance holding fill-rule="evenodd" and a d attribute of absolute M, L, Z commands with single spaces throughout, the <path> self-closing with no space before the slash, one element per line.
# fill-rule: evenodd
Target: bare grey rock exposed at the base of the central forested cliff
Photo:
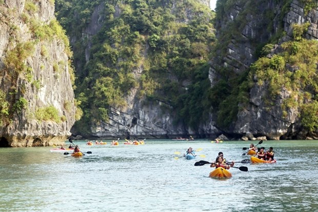
<path fill-rule="evenodd" d="M 198 1 L 204 5 L 209 5 L 209 1 Z M 90 17 L 91 22 L 88 24 L 82 37 L 72 37 L 71 43 L 74 44 L 78 40 L 87 40 L 85 46 L 85 59 L 88 63 L 91 55 L 90 48 L 92 38 L 96 33 L 100 32 L 105 20 L 105 14 L 102 12 L 104 4 L 101 3 L 94 8 Z M 120 15 L 121 11 L 118 6 L 114 6 L 114 17 Z M 187 17 L 191 18 L 191 10 L 188 11 Z M 145 44 L 145 57 L 147 57 L 147 49 L 149 46 Z M 75 62 L 76 72 L 83 71 L 83 64 Z M 139 79 L 144 71 L 143 65 L 138 69 L 133 70 L 134 78 Z M 185 86 L 186 87 L 186 86 Z M 127 106 L 125 108 L 111 108 L 109 111 L 108 122 L 96 122 L 91 126 L 91 133 L 89 137 L 111 139 L 116 137 L 127 138 L 175 138 L 194 134 L 190 128 L 185 127 L 183 124 L 175 125 L 175 114 L 168 113 L 162 109 L 163 102 L 147 102 L 145 99 L 137 98 L 137 89 L 132 89 L 125 97 Z M 170 107 L 169 105 L 166 105 Z M 204 137 L 216 137 L 221 134 L 221 131 L 214 127 L 212 116 L 209 121 L 202 123 L 200 134 Z M 72 128 L 71 132 L 74 136 L 81 134 L 79 129 Z"/>

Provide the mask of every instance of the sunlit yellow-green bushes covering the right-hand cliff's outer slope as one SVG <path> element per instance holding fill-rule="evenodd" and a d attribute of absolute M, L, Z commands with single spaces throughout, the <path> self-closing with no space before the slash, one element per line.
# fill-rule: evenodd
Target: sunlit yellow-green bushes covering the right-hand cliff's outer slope
<path fill-rule="evenodd" d="M 300 26 L 294 29 L 299 29 Z M 268 87 L 268 100 L 275 100 L 284 90 L 289 98 L 282 108 L 300 108 L 302 124 L 309 130 L 318 127 L 314 118 L 318 104 L 318 42 L 303 40 L 296 36 L 296 41 L 282 44 L 284 51 L 271 59 L 263 57 L 251 67 L 250 81 L 257 76 L 257 84 Z M 286 112 L 284 114 L 287 114 Z"/>

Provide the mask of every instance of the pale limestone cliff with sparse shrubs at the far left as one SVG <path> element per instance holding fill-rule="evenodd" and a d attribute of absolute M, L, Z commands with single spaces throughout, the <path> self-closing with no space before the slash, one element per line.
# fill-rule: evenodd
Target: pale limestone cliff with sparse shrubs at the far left
<path fill-rule="evenodd" d="M 0 146 L 64 143 L 76 107 L 67 38 L 52 1 L 0 5 Z M 65 39 L 66 38 L 66 39 Z"/>

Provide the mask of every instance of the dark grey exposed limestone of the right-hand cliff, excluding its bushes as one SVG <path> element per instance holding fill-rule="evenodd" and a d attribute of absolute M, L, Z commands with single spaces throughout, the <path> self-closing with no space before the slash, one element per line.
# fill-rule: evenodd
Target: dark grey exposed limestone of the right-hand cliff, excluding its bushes
<path fill-rule="evenodd" d="M 226 43 L 224 50 L 226 53 L 221 53 L 222 57 L 215 57 L 213 60 L 214 63 L 210 70 L 212 86 L 218 81 L 217 70 L 220 70 L 220 67 L 226 67 L 235 74 L 244 73 L 257 60 L 257 45 L 269 43 L 274 35 L 281 33 L 280 42 L 271 50 L 268 57 L 279 52 L 280 44 L 292 39 L 293 24 L 310 23 L 304 37 L 314 40 L 318 38 L 318 8 L 316 6 L 309 11 L 304 11 L 304 4 L 296 0 L 235 1 L 230 8 L 226 8 L 229 5 L 225 6 L 225 2 L 222 2 L 224 5 L 219 2 L 220 7 L 217 8 L 220 12 L 216 26 L 218 36 L 229 33 L 227 28 L 235 23 L 237 31 L 232 33 L 235 36 L 232 36 L 230 42 Z M 221 43 L 222 40 L 220 37 Z M 225 43 L 222 44 L 225 45 Z M 217 51 L 220 52 L 220 50 Z M 228 133 L 241 135 L 252 133 L 273 140 L 317 138 L 314 132 L 310 133 L 301 125 L 299 107 L 283 110 L 284 101 L 291 97 L 289 90 L 282 87 L 279 96 L 268 104 L 266 101 L 269 93 L 268 87 L 257 85 L 256 81 L 257 79 L 254 80 L 255 84 L 249 90 L 248 104 L 240 104 L 241 109 L 237 113 L 237 120 L 232 123 L 230 128 L 225 129 Z"/>

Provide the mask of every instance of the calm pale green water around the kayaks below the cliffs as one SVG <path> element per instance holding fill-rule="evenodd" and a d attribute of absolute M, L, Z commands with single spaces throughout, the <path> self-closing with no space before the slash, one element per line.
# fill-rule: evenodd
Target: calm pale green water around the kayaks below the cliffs
<path fill-rule="evenodd" d="M 219 151 L 248 159 L 242 148 L 250 142 L 74 143 L 92 154 L 0 148 L 0 211 L 318 211 L 318 141 L 264 141 L 258 147 L 274 147 L 277 163 L 236 163 L 249 171 L 231 168 L 228 180 L 208 178 L 212 168 L 194 163 Z M 174 159 L 190 146 L 206 158 Z"/>

